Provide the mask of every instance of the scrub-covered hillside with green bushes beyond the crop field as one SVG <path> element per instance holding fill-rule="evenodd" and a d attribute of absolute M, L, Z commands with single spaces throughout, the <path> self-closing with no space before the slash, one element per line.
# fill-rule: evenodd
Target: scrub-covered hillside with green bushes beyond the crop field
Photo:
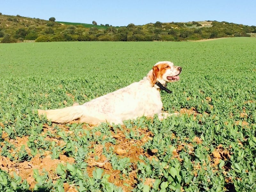
<path fill-rule="evenodd" d="M 54 19 L 55 20 L 55 19 Z M 129 24 L 124 27 L 41 20 L 0 14 L 1 43 L 23 41 L 192 41 L 256 36 L 256 27 L 225 21 Z"/>

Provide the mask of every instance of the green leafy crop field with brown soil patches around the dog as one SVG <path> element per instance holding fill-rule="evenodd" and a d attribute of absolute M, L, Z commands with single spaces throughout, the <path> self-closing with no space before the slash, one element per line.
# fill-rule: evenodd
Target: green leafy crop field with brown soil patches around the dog
<path fill-rule="evenodd" d="M 256 191 L 256 38 L 0 44 L 0 191 Z M 159 121 L 55 124 L 170 60 Z"/>

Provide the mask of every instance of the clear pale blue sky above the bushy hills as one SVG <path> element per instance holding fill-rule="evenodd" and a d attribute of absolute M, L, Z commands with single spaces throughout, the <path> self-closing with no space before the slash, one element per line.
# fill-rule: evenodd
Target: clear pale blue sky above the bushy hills
<path fill-rule="evenodd" d="M 0 0 L 4 15 L 98 25 L 217 20 L 256 26 L 256 0 Z"/>

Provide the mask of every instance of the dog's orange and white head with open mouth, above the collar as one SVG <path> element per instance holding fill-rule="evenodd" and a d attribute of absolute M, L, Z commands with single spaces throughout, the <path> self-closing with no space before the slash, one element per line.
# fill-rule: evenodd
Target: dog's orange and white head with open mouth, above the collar
<path fill-rule="evenodd" d="M 156 81 L 161 84 L 179 81 L 181 70 L 181 67 L 173 66 L 170 61 L 160 61 L 152 68 L 152 74 L 149 74 L 150 83 L 154 86 Z"/>

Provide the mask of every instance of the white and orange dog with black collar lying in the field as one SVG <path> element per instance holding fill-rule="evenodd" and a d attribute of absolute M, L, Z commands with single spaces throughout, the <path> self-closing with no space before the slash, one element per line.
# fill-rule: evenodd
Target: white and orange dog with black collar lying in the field
<path fill-rule="evenodd" d="M 124 120 L 146 116 L 159 119 L 166 117 L 161 113 L 163 103 L 160 90 L 169 91 L 166 84 L 180 80 L 182 68 L 170 61 L 157 62 L 139 82 L 108 93 L 83 105 L 74 104 L 61 109 L 41 110 L 38 115 L 46 115 L 55 123 L 68 123 L 80 119 L 80 123 L 97 125 L 103 122 L 123 124 Z"/>

